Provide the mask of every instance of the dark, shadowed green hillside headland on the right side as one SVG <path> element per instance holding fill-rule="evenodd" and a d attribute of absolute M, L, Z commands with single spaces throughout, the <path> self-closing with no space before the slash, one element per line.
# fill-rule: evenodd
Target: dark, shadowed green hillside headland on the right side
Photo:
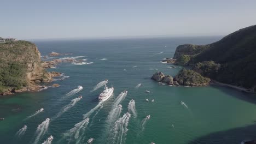
<path fill-rule="evenodd" d="M 240 29 L 208 45 L 181 45 L 176 64 L 235 86 L 256 90 L 256 25 Z"/>

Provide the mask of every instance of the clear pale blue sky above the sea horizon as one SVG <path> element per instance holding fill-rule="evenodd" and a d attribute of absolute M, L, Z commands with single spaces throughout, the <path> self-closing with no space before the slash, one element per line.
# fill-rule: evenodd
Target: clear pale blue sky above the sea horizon
<path fill-rule="evenodd" d="M 1 1 L 0 37 L 226 35 L 256 25 L 256 1 Z"/>

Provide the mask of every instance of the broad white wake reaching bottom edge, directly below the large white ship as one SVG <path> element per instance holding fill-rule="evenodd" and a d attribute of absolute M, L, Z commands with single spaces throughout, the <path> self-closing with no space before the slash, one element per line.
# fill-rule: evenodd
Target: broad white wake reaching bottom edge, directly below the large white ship
<path fill-rule="evenodd" d="M 112 143 L 124 143 L 130 117 L 130 113 L 127 112 L 115 122 L 113 129 L 110 131 Z"/>

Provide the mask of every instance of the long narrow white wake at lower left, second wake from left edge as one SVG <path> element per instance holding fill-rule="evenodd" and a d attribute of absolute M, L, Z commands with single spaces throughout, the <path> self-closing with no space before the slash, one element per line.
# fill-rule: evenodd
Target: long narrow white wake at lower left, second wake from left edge
<path fill-rule="evenodd" d="M 37 144 L 40 138 L 45 134 L 45 132 L 48 130 L 50 123 L 50 118 L 46 118 L 45 121 L 43 121 L 41 124 L 38 125 L 37 131 L 36 131 L 36 140 L 34 140 L 34 143 Z"/>

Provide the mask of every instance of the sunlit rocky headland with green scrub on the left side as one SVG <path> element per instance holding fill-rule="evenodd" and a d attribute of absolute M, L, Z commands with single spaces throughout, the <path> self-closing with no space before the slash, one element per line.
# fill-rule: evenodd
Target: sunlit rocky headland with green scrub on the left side
<path fill-rule="evenodd" d="M 37 46 L 28 41 L 0 44 L 0 94 L 36 91 L 36 82 L 50 81 Z"/>

